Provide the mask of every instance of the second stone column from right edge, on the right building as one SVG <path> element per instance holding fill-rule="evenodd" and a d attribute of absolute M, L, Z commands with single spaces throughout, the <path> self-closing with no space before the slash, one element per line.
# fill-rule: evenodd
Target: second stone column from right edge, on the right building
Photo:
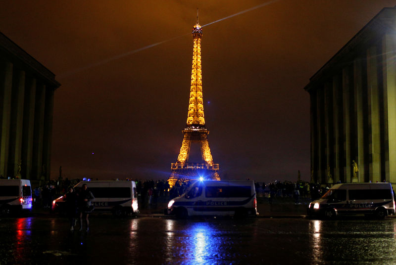
<path fill-rule="evenodd" d="M 379 91 L 377 77 L 377 48 L 372 46 L 367 49 L 367 97 L 369 111 L 369 127 L 371 135 L 369 137 L 369 163 L 370 180 L 373 182 L 381 180 L 381 143 L 380 143 L 380 108 Z"/>

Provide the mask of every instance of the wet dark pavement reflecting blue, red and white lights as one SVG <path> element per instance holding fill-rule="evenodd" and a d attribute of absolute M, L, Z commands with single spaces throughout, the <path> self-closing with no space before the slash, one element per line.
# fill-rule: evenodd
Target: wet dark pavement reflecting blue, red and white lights
<path fill-rule="evenodd" d="M 0 220 L 0 264 L 395 264 L 396 219 Z"/>

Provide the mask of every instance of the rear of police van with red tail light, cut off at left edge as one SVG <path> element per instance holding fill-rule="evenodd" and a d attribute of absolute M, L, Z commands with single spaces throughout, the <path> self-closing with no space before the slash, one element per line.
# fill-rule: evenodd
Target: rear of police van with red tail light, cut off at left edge
<path fill-rule="evenodd" d="M 0 214 L 32 211 L 32 188 L 28 179 L 0 179 Z"/>

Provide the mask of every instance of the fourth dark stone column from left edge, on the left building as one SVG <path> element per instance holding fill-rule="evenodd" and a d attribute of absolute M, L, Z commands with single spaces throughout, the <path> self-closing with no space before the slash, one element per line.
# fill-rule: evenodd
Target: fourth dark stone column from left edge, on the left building
<path fill-rule="evenodd" d="M 34 118 L 34 144 L 33 144 L 33 178 L 43 179 L 43 141 L 44 141 L 44 114 L 46 107 L 46 86 L 37 84 L 36 87 L 36 108 Z M 44 174 L 45 174 L 44 172 Z"/>

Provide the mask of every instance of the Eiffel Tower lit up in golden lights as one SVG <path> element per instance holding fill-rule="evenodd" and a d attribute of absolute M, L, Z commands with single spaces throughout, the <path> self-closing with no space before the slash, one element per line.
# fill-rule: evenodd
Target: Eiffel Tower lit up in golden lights
<path fill-rule="evenodd" d="M 198 23 L 193 27 L 193 69 L 191 72 L 190 100 L 187 114 L 187 125 L 183 132 L 183 142 L 177 162 L 171 164 L 169 184 L 173 187 L 176 181 L 185 182 L 203 179 L 220 180 L 219 164 L 214 164 L 210 153 L 205 127 L 202 98 L 202 72 L 201 72 L 201 37 L 202 29 Z M 200 144 L 201 161 L 191 162 L 190 149 L 192 144 Z"/>

